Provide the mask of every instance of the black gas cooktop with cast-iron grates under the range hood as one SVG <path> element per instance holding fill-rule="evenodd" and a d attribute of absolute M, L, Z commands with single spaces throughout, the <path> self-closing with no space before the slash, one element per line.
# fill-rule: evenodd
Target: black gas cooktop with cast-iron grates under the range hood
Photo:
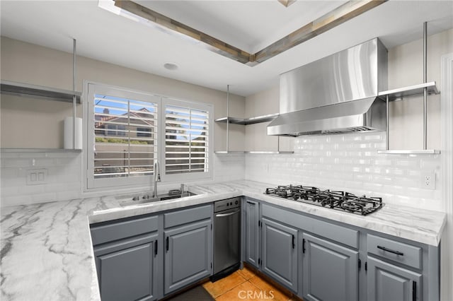
<path fill-rule="evenodd" d="M 362 216 L 373 213 L 384 206 L 382 198 L 367 197 L 365 195 L 356 196 L 355 194 L 346 191 L 331 191 L 330 189 L 321 190 L 316 187 L 305 187 L 302 185 L 266 188 L 265 194 L 356 213 Z"/>

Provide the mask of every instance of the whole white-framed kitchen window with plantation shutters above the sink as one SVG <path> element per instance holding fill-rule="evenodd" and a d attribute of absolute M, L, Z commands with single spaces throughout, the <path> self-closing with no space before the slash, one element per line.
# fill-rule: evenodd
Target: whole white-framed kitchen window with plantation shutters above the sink
<path fill-rule="evenodd" d="M 87 83 L 87 189 L 212 177 L 212 106 Z M 212 151 L 211 151 L 212 153 Z"/>

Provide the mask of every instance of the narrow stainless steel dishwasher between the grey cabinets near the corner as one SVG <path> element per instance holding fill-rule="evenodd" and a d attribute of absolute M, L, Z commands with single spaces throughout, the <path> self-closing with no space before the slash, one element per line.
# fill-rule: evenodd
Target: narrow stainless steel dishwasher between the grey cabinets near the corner
<path fill-rule="evenodd" d="M 214 202 L 214 274 L 217 281 L 241 264 L 241 198 Z"/>

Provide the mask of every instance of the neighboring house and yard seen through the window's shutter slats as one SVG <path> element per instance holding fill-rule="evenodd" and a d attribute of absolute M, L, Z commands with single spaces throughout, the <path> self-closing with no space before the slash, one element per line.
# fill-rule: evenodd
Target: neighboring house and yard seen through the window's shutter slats
<path fill-rule="evenodd" d="M 166 173 L 205 171 L 207 124 L 196 123 L 190 113 L 166 117 Z M 139 110 L 112 114 L 108 108 L 95 114 L 95 175 L 123 177 L 153 172 L 156 148 L 155 113 Z"/>

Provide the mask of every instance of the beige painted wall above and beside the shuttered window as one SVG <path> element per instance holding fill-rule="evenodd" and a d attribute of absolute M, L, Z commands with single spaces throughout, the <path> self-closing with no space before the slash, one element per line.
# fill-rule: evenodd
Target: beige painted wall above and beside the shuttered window
<path fill-rule="evenodd" d="M 226 114 L 226 93 L 128 69 L 86 57 L 77 57 L 76 90 L 83 81 L 168 95 L 214 105 L 214 118 Z M 1 37 L 1 79 L 72 90 L 72 54 Z M 230 95 L 230 115 L 243 117 L 245 98 Z M 81 105 L 78 106 L 81 116 Z M 72 107 L 62 102 L 23 99 L 1 95 L 2 148 L 62 148 L 62 120 Z M 215 150 L 226 148 L 225 124 L 214 125 Z M 230 133 L 230 149 L 243 148 L 244 129 Z M 19 137 L 19 138 L 18 138 Z"/>

